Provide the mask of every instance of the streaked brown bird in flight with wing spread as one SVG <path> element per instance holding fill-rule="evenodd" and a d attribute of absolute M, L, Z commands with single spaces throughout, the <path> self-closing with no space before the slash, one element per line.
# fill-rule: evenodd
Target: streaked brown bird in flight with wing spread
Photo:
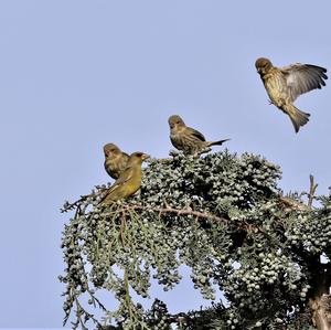
<path fill-rule="evenodd" d="M 303 93 L 325 86 L 327 68 L 300 63 L 276 67 L 264 57 L 256 60 L 255 66 L 270 103 L 290 117 L 298 132 L 300 127 L 308 123 L 310 114 L 299 110 L 293 102 Z"/>

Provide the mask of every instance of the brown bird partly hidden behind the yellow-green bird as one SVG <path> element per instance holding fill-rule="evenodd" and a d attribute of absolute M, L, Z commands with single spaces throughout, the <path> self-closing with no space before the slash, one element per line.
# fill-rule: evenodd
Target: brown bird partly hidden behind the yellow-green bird
<path fill-rule="evenodd" d="M 113 178 L 118 179 L 119 174 L 126 168 L 129 155 L 122 152 L 116 145 L 107 143 L 104 146 L 105 170 Z"/>

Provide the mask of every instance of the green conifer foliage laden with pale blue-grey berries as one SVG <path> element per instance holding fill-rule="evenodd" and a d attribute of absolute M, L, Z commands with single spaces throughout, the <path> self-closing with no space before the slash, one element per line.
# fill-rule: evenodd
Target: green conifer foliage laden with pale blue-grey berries
<path fill-rule="evenodd" d="M 64 323 L 74 329 L 329 329 L 331 195 L 282 196 L 279 167 L 260 156 L 224 152 L 152 160 L 139 194 L 99 204 L 97 187 L 63 212 L 66 268 Z M 317 200 L 319 207 L 311 207 Z M 324 262 L 321 262 L 321 256 Z M 205 299 L 215 289 L 228 301 L 171 315 L 156 300 L 150 310 L 132 292 L 149 298 L 151 278 L 164 290 L 191 268 Z M 100 301 L 98 291 L 109 291 Z M 104 298 L 105 300 L 105 298 Z M 106 305 L 117 301 L 115 308 Z M 330 323 L 329 323 L 330 326 Z"/>

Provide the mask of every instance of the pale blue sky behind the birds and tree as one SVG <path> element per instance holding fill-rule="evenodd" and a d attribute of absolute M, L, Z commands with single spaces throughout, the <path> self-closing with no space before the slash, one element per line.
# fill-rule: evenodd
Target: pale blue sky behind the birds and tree
<path fill-rule="evenodd" d="M 0 328 L 61 328 L 60 207 L 109 180 L 106 142 L 167 157 L 170 115 L 281 166 L 285 191 L 312 173 L 327 193 L 331 81 L 297 100 L 311 117 L 296 135 L 254 63 L 331 72 L 330 14 L 327 0 L 0 0 Z M 161 298 L 199 308 L 190 288 Z"/>

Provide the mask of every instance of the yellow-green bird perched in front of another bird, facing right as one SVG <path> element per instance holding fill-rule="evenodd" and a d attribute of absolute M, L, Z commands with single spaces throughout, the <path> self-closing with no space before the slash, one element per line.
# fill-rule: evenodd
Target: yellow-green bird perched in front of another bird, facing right
<path fill-rule="evenodd" d="M 102 201 L 104 205 L 109 205 L 115 201 L 127 199 L 139 190 L 141 184 L 141 163 L 149 158 L 143 152 L 134 152 L 119 178 L 109 188 L 107 195 Z"/>

